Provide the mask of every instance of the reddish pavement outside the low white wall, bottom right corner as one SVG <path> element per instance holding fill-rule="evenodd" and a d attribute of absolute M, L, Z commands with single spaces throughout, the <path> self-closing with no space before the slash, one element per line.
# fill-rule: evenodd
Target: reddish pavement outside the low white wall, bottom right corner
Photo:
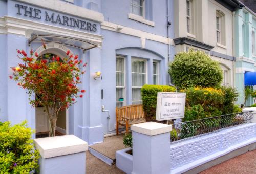
<path fill-rule="evenodd" d="M 201 172 L 201 174 L 256 174 L 256 150 L 234 157 Z"/>

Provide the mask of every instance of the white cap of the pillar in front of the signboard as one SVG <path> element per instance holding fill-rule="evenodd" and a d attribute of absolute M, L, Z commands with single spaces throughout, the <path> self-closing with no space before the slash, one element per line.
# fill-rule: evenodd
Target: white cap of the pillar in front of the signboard
<path fill-rule="evenodd" d="M 137 133 L 153 136 L 172 131 L 172 126 L 156 122 L 145 122 L 131 125 L 131 130 Z"/>

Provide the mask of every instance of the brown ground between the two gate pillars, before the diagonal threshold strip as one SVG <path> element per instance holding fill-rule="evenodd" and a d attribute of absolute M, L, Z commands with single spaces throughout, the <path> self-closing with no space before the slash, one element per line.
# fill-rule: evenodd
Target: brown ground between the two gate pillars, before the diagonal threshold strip
<path fill-rule="evenodd" d="M 87 174 L 123 174 L 116 165 L 109 166 L 100 159 L 93 156 L 89 151 L 86 152 L 86 173 Z"/>

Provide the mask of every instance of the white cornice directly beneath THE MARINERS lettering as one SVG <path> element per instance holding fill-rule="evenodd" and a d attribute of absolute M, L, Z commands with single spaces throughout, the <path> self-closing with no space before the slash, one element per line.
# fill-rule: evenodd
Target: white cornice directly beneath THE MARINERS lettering
<path fill-rule="evenodd" d="M 77 39 L 92 41 L 99 47 L 102 45 L 103 39 L 101 35 L 51 26 L 48 24 L 38 23 L 35 21 L 20 19 L 11 16 L 0 17 L 0 29 L 2 29 L 0 30 L 2 31 L 2 34 L 12 33 L 24 35 L 26 37 L 30 37 L 30 34 L 35 31 L 38 33 L 50 33 L 74 37 Z"/>

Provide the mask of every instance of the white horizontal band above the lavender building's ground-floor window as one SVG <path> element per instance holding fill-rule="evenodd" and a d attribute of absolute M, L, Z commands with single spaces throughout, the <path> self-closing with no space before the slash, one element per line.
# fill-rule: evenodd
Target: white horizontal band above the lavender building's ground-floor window
<path fill-rule="evenodd" d="M 117 26 L 121 27 L 122 30 L 117 31 L 116 30 Z M 137 30 L 137 29 L 132 29 L 129 27 L 118 25 L 118 24 L 110 23 L 108 21 L 103 21 L 103 23 L 101 23 L 101 29 L 110 30 L 110 31 L 127 34 L 127 35 L 131 35 L 131 36 L 136 36 L 136 37 L 143 37 L 148 40 L 153 40 L 153 41 L 161 42 L 163 44 L 170 44 L 170 45 L 175 46 L 173 39 L 159 36 L 159 35 L 152 34 L 152 33 L 148 33 L 148 32 L 144 32 L 144 31 Z"/>

